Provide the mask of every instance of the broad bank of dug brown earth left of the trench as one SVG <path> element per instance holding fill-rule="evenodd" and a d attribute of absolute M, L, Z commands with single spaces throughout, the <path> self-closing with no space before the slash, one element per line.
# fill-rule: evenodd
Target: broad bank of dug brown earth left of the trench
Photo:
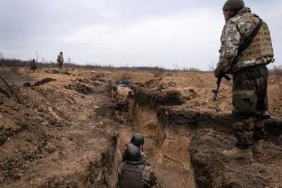
<path fill-rule="evenodd" d="M 106 83 L 85 96 L 63 87 L 73 77 L 32 75 L 37 87 L 13 87 L 22 104 L 0 93 L 0 187 L 114 187 L 117 133 L 100 92 Z"/>

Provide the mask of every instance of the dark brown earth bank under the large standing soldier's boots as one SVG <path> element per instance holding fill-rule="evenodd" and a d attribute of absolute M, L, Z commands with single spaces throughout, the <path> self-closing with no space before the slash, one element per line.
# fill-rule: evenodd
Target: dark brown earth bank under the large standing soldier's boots
<path fill-rule="evenodd" d="M 199 130 L 190 143 L 198 187 L 281 187 L 281 148 L 263 142 L 264 153 L 255 161 L 231 160 L 221 151 L 235 145 L 234 137 L 214 130 Z"/>

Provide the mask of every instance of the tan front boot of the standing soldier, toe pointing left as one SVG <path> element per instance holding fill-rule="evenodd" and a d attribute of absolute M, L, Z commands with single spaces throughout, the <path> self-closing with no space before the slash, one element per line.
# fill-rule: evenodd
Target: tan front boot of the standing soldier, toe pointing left
<path fill-rule="evenodd" d="M 249 148 L 247 149 L 239 149 L 239 148 L 234 148 L 231 150 L 224 150 L 222 152 L 223 156 L 226 156 L 227 158 L 247 158 L 247 159 L 252 159 L 252 151 Z"/>

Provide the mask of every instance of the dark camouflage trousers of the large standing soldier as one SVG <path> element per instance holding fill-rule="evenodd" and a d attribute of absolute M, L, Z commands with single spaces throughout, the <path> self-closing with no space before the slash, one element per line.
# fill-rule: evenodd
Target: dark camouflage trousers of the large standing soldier
<path fill-rule="evenodd" d="M 268 70 L 255 67 L 233 74 L 233 132 L 238 148 L 253 145 L 254 140 L 264 139 L 264 113 L 267 103 Z"/>

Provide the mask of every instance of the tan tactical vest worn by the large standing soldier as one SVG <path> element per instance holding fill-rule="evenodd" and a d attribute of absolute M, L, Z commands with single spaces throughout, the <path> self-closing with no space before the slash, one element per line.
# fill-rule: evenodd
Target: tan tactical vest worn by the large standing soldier
<path fill-rule="evenodd" d="M 252 13 L 244 13 L 241 15 L 252 23 L 252 28 L 255 29 L 259 23 L 259 18 L 255 17 Z M 238 20 L 240 21 L 240 19 Z M 236 22 L 235 22 L 236 23 Z M 248 36 L 247 36 L 248 37 Z M 244 39 L 244 38 L 243 38 Z M 262 27 L 253 39 L 250 46 L 245 49 L 240 56 L 237 57 L 237 62 L 244 62 L 258 58 L 273 57 L 274 50 L 272 47 L 271 36 L 269 27 L 263 22 Z M 264 64 L 268 64 L 266 62 Z"/>

